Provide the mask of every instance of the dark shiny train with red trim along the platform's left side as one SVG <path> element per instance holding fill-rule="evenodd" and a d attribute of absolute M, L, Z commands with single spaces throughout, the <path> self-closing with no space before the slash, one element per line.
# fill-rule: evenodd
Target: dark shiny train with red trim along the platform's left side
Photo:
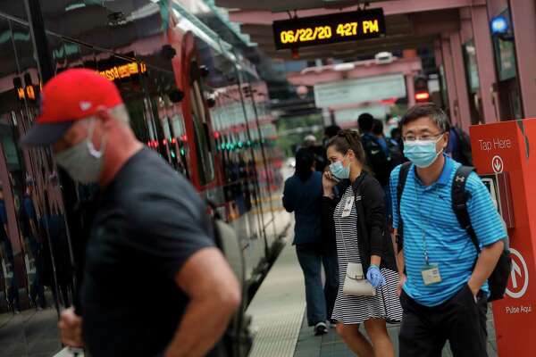
<path fill-rule="evenodd" d="M 268 87 L 244 54 L 199 20 L 193 3 L 0 3 L 3 356 L 30 345 L 49 355 L 61 347 L 57 315 L 76 300 L 96 209 L 97 187 L 69 179 L 50 150 L 18 145 L 38 115 L 43 82 L 61 71 L 86 68 L 113 81 L 138 139 L 234 228 L 239 242 L 228 253 L 245 262 L 247 301 L 281 250 L 289 224 L 278 219 L 283 154 Z M 36 235 L 24 228 L 29 203 Z M 43 337 L 51 331 L 54 344 Z"/>

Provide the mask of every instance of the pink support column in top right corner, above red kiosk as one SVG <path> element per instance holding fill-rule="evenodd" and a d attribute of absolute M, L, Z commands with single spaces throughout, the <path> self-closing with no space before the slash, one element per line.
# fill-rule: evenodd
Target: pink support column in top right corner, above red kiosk
<path fill-rule="evenodd" d="M 510 0 L 510 12 L 515 34 L 515 57 L 523 118 L 536 118 L 536 4 L 534 0 Z"/>

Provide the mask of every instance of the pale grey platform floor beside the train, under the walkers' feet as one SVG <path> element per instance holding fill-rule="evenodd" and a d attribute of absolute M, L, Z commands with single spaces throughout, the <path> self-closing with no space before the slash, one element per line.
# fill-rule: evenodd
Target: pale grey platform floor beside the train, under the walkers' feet
<path fill-rule="evenodd" d="M 292 232 L 292 229 L 289 230 Z M 255 342 L 250 357 L 347 357 L 348 350 L 334 328 L 314 336 L 305 319 L 305 286 L 291 237 L 272 270 L 264 279 L 247 313 L 253 318 Z M 491 309 L 490 309 L 491 310 Z M 398 355 L 398 326 L 389 326 L 389 336 Z M 496 357 L 493 318 L 488 318 L 490 357 Z M 451 356 L 448 346 L 443 356 Z"/>

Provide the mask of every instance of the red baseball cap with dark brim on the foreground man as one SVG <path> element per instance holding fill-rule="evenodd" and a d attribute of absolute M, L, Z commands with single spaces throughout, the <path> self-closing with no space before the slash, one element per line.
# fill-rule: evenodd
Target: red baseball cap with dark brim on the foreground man
<path fill-rule="evenodd" d="M 34 126 L 21 138 L 22 145 L 52 145 L 76 120 L 122 103 L 113 82 L 96 71 L 83 69 L 63 71 L 50 79 L 43 87 L 40 100 L 40 114 Z"/>

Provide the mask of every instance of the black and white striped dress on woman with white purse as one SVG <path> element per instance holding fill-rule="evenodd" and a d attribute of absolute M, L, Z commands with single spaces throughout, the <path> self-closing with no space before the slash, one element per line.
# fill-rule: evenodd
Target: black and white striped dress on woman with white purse
<path fill-rule="evenodd" d="M 353 196 L 354 190 L 350 186 L 333 213 L 337 235 L 340 284 L 331 318 L 345 325 L 359 324 L 371 319 L 399 322 L 402 320 L 402 307 L 397 294 L 398 272 L 385 268 L 381 269 L 381 274 L 385 277 L 387 284 L 378 287 L 375 296 L 353 296 L 342 292 L 348 262 L 361 262 L 357 245 L 359 237 L 357 237 L 356 203 L 352 205 L 349 216 L 342 217 L 345 204 Z"/>

